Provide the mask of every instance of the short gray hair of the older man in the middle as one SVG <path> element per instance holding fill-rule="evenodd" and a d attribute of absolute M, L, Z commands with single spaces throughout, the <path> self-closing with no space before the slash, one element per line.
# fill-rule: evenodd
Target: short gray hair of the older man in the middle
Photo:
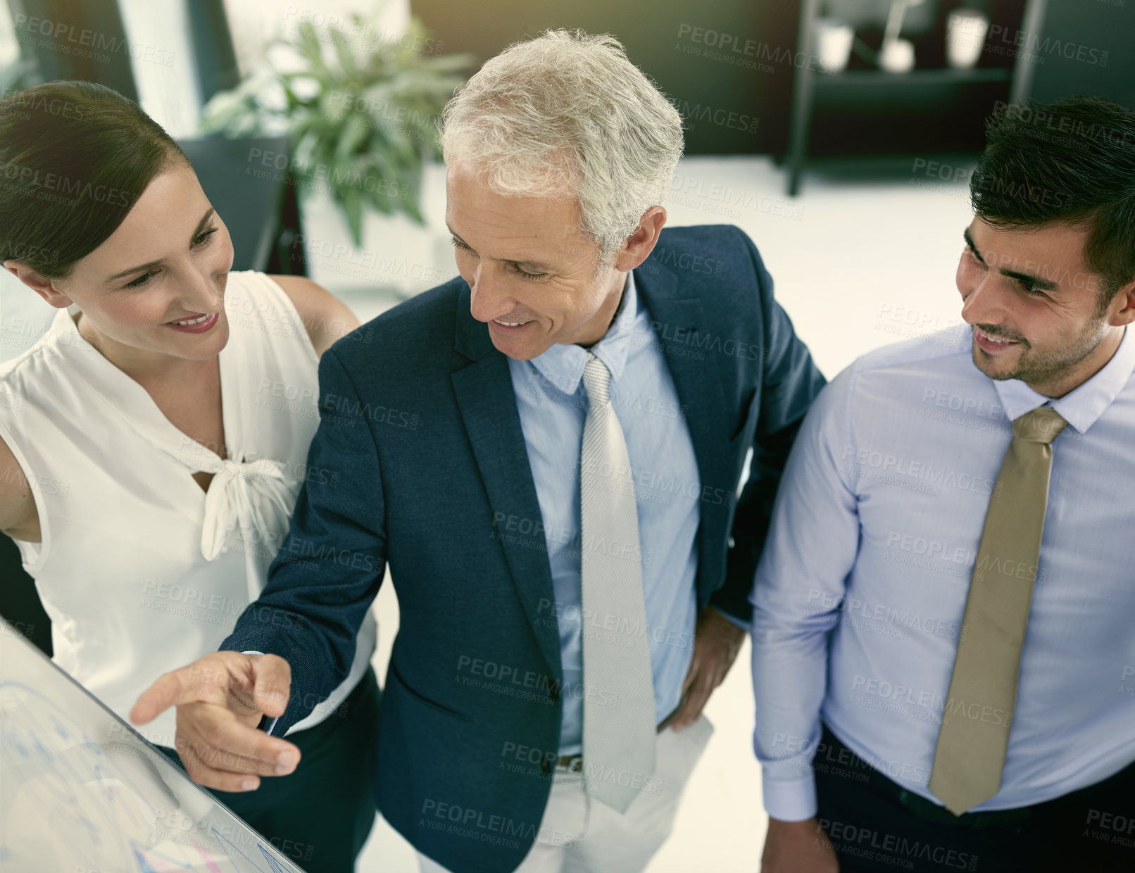
<path fill-rule="evenodd" d="M 662 203 L 682 119 L 614 36 L 547 31 L 486 61 L 440 119 L 447 163 L 505 196 L 579 201 L 582 233 L 609 262 Z"/>

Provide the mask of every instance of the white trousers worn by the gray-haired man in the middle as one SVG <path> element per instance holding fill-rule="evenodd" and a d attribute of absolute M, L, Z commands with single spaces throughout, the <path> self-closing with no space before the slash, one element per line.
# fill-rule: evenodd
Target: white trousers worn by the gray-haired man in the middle
<path fill-rule="evenodd" d="M 592 800 L 583 774 L 557 767 L 540 830 L 516 873 L 634 873 L 670 837 L 686 783 L 713 733 L 701 715 L 681 732 L 658 735 L 655 779 L 625 814 Z M 470 845 L 477 851 L 477 845 Z M 449 873 L 418 853 L 421 873 Z"/>

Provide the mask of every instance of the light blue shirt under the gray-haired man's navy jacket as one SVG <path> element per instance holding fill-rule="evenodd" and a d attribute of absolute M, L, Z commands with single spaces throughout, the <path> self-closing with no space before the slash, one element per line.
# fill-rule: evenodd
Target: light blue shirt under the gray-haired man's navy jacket
<path fill-rule="evenodd" d="M 611 402 L 634 478 L 646 632 L 661 722 L 681 699 L 693 654 L 701 484 L 678 392 L 633 274 L 627 274 L 611 328 L 589 351 L 611 370 Z M 602 620 L 583 615 L 581 608 L 579 471 L 587 354 L 582 346 L 557 343 L 530 361 L 508 361 L 555 589 L 556 602 L 548 604 L 547 615 L 557 622 L 563 663 L 561 755 L 581 749 L 582 632 L 603 632 Z"/>

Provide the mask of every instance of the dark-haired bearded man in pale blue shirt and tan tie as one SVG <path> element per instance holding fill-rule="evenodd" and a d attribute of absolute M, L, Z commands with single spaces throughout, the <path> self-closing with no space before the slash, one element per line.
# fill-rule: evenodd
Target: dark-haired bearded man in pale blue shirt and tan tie
<path fill-rule="evenodd" d="M 785 468 L 764 873 L 1135 870 L 1135 112 L 1002 108 L 970 193 L 967 324 L 857 360 Z"/>

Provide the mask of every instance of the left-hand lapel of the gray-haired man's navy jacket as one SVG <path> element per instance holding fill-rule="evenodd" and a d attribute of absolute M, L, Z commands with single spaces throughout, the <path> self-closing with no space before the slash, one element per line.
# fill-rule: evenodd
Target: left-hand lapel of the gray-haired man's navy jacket
<path fill-rule="evenodd" d="M 456 321 L 456 350 L 473 363 L 453 372 L 451 380 L 489 504 L 496 518 L 519 515 L 543 527 L 508 359 L 493 345 L 488 328 L 469 313 L 468 287 L 457 304 Z M 562 683 L 560 637 L 555 622 L 548 621 L 547 604 L 555 602 L 555 591 L 547 553 L 519 538 L 501 540 L 501 547 L 550 674 Z"/>

